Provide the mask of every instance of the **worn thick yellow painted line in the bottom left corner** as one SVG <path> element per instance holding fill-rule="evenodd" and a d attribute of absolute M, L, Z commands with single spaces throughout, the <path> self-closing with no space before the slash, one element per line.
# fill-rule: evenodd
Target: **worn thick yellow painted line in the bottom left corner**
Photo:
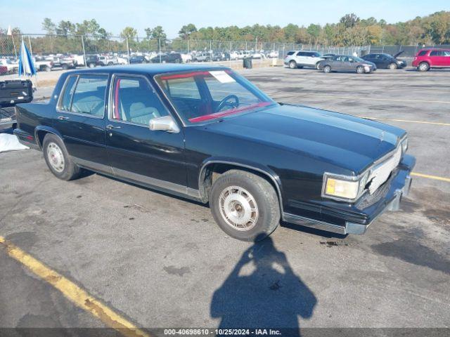
<path fill-rule="evenodd" d="M 6 251 L 11 258 L 25 265 L 25 267 L 37 275 L 37 277 L 51 284 L 58 291 L 63 293 L 63 295 L 72 303 L 77 305 L 77 307 L 86 310 L 86 312 L 90 312 L 105 325 L 119 331 L 127 337 L 150 336 L 148 333 L 137 328 L 127 319 L 117 314 L 117 312 L 101 303 L 100 300 L 89 295 L 89 293 L 81 289 L 77 284 L 66 279 L 63 275 L 58 274 L 58 272 L 51 270 L 44 265 L 44 263 L 41 263 L 39 260 L 25 253 L 25 251 L 14 244 L 11 244 L 11 242 L 7 242 L 4 237 L 0 236 L 0 244 L 6 247 Z"/>

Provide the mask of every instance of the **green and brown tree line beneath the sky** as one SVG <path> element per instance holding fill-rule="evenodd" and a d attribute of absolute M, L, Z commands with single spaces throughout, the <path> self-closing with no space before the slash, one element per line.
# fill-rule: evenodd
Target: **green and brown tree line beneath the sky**
<path fill-rule="evenodd" d="M 349 13 L 338 22 L 326 25 L 310 24 L 307 27 L 290 23 L 237 27 L 200 27 L 193 23 L 179 29 L 179 36 L 167 40 L 162 26 L 147 27 L 141 37 L 134 27 L 124 27 L 120 37 L 101 27 L 95 19 L 82 22 L 61 20 L 57 24 L 50 18 L 42 22 L 46 36 L 33 37 L 32 46 L 37 53 L 74 53 L 82 50 L 82 43 L 88 53 L 102 51 L 158 50 L 159 44 L 166 49 L 186 50 L 186 41 L 248 41 L 310 44 L 320 46 L 363 46 L 375 45 L 435 45 L 450 44 L 450 11 L 440 11 L 406 22 L 387 23 L 375 18 L 361 19 Z M 6 29 L 0 28 L 0 34 Z M 20 35 L 20 27 L 13 28 L 13 34 Z M 84 41 L 81 41 L 84 36 Z M 128 42 L 129 46 L 125 46 Z M 257 45 L 255 45 L 257 46 Z M 205 44 L 191 43 L 191 49 L 207 49 Z M 226 48 L 226 46 L 224 46 Z M 242 47 L 240 47 L 242 48 Z"/>

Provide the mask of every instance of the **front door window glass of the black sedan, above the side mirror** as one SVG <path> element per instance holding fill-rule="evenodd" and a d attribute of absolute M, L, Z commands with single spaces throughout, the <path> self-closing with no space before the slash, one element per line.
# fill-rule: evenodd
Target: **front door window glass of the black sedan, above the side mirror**
<path fill-rule="evenodd" d="M 158 96 L 143 77 L 115 77 L 111 119 L 148 126 L 150 119 L 166 116 Z"/>

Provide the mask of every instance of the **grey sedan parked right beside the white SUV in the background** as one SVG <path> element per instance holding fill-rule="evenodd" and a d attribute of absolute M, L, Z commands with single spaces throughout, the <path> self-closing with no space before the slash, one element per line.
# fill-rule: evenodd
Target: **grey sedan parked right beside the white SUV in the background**
<path fill-rule="evenodd" d="M 356 56 L 349 55 L 335 55 L 332 58 L 326 58 L 319 62 L 319 70 L 323 72 L 357 72 L 364 74 L 368 72 L 375 72 L 377 67 L 374 63 L 368 62 Z"/>

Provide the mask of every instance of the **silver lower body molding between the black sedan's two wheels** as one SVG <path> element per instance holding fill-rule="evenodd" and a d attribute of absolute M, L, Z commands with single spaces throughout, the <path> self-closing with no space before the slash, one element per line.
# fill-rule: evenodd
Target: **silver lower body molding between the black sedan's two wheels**
<path fill-rule="evenodd" d="M 84 169 L 90 169 L 93 171 L 98 171 L 99 173 L 105 173 L 108 176 L 112 176 L 120 180 L 126 180 L 129 183 L 138 183 L 139 185 L 153 188 L 155 190 L 176 194 L 179 197 L 201 201 L 200 192 L 191 187 L 170 183 L 169 181 L 151 178 L 148 176 L 142 176 L 141 174 L 116 169 L 108 165 L 98 164 L 94 161 L 88 161 L 77 157 L 72 157 L 72 159 L 73 161 L 75 161 L 75 164 L 83 167 Z"/>

